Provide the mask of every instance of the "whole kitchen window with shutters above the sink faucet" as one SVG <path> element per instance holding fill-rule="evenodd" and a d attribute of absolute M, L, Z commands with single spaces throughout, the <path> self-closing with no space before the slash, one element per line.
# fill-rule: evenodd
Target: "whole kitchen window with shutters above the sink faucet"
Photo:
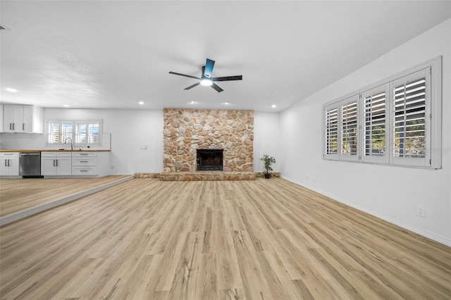
<path fill-rule="evenodd" d="M 47 120 L 47 144 L 99 146 L 101 120 Z"/>

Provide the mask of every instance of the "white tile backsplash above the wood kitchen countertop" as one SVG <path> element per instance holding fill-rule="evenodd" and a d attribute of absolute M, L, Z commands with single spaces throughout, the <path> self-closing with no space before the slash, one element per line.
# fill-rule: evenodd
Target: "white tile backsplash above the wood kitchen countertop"
<path fill-rule="evenodd" d="M 70 149 L 70 144 L 64 146 L 48 146 L 46 144 L 47 135 L 38 133 L 0 133 L 1 150 L 53 150 Z M 87 146 L 74 146 L 74 149 L 87 149 Z M 111 150 L 111 134 L 101 135 L 100 146 L 90 146 L 90 150 Z"/>

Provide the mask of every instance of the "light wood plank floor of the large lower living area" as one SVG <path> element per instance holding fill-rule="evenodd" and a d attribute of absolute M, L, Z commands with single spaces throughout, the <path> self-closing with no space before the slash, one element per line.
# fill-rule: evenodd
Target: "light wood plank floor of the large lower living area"
<path fill-rule="evenodd" d="M 280 178 L 134 179 L 0 228 L 1 299 L 450 299 L 451 248 Z"/>

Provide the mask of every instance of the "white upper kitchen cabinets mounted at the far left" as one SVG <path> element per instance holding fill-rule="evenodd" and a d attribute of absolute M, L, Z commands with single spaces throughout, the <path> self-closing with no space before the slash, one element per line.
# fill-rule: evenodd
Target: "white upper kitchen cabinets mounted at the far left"
<path fill-rule="evenodd" d="M 44 109 L 32 105 L 6 104 L 2 132 L 44 132 Z"/>

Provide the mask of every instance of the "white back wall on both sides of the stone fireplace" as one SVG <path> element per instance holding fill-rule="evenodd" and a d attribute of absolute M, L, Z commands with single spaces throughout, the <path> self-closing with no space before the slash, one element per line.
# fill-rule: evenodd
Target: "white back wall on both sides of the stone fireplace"
<path fill-rule="evenodd" d="M 163 111 L 45 108 L 44 119 L 49 118 L 101 118 L 104 132 L 111 133 L 111 175 L 163 172 Z M 147 150 L 140 149 L 146 144 Z M 254 112 L 256 172 L 263 171 L 263 154 L 280 161 L 279 113 Z"/>

